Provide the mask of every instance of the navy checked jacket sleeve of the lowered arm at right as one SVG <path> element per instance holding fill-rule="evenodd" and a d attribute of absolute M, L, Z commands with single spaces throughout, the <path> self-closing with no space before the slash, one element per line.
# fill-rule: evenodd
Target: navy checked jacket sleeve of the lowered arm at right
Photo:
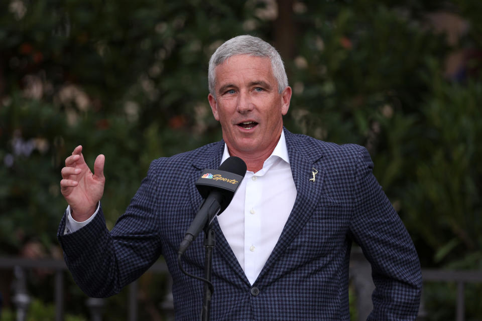
<path fill-rule="evenodd" d="M 373 175 L 368 151 L 358 152 L 350 231 L 372 265 L 375 290 L 368 320 L 414 320 L 422 277 L 413 242 Z"/>

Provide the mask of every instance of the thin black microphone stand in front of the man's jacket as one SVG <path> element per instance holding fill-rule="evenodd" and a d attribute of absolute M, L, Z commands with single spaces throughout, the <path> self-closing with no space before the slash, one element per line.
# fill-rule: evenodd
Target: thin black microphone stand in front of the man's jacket
<path fill-rule="evenodd" d="M 204 259 L 204 278 L 211 282 L 212 274 L 212 250 L 216 245 L 216 234 L 211 227 L 210 222 L 204 227 L 204 247 L 206 249 L 206 255 Z M 214 292 L 214 287 L 212 283 L 204 283 L 204 295 L 202 299 L 202 311 L 201 311 L 201 321 L 210 320 L 210 309 L 211 309 L 211 296 Z"/>

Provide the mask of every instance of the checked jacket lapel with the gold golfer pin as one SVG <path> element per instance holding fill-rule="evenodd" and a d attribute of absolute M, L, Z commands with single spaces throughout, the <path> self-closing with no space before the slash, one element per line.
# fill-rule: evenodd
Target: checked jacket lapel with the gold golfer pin
<path fill-rule="evenodd" d="M 321 150 L 311 150 L 312 145 L 306 144 L 307 139 L 297 136 L 285 128 L 285 138 L 290 157 L 291 172 L 296 186 L 296 199 L 285 227 L 276 243 L 273 252 L 263 267 L 258 280 L 275 265 L 293 239 L 300 233 L 306 222 L 313 215 L 314 209 L 321 197 L 324 169 L 319 163 Z M 306 144 L 306 145 L 305 145 Z M 316 173 L 313 175 L 313 172 Z M 313 179 L 314 181 L 310 181 Z"/>

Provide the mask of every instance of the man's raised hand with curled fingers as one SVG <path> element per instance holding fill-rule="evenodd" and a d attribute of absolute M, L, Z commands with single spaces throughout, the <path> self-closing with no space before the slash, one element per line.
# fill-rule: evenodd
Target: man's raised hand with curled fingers
<path fill-rule="evenodd" d="M 62 169 L 60 191 L 70 205 L 72 218 L 83 222 L 94 214 L 97 202 L 104 193 L 104 155 L 95 158 L 94 174 L 85 164 L 82 146 L 75 147 L 72 155 L 65 159 Z"/>

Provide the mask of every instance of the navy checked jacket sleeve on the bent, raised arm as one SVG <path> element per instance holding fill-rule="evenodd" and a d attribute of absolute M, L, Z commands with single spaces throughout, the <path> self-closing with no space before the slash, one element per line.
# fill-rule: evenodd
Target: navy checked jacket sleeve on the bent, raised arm
<path fill-rule="evenodd" d="M 90 297 L 114 295 L 144 273 L 161 254 L 158 182 L 153 164 L 131 204 L 111 232 L 102 209 L 86 226 L 58 240 L 77 285 Z"/>

